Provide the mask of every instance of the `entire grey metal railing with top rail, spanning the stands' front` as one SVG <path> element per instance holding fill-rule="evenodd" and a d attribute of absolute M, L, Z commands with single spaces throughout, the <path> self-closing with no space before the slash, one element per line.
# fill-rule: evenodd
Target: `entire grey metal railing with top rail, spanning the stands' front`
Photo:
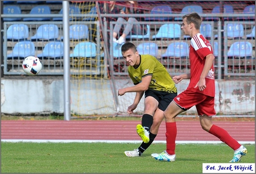
<path fill-rule="evenodd" d="M 183 14 L 146 14 L 147 17 L 182 17 Z M 250 63 L 250 71 L 245 71 L 245 73 L 243 71 L 229 71 L 228 69 L 230 69 L 230 62 L 228 60 L 227 57 L 227 52 L 228 49 L 230 47 L 230 44 L 232 41 L 236 41 L 236 40 L 229 40 L 226 36 L 225 36 L 225 26 L 227 25 L 227 22 L 225 22 L 224 24 L 222 23 L 221 18 L 224 17 L 254 17 L 254 21 L 241 21 L 237 23 L 242 23 L 244 25 L 255 25 L 255 14 L 201 14 L 201 16 L 204 17 L 218 17 L 219 20 L 216 22 L 210 22 L 210 21 L 203 21 L 202 24 L 211 24 L 212 26 L 212 34 L 210 37 L 210 42 L 212 44 L 213 49 L 215 49 L 214 47 L 214 42 L 218 42 L 218 54 L 216 56 L 216 63 L 215 63 L 215 68 L 216 68 L 216 72 L 218 74 L 218 78 L 220 79 L 222 76 L 222 70 L 224 69 L 224 75 L 237 75 L 237 76 L 255 76 L 255 59 L 253 59 L 255 57 L 255 39 L 251 38 L 249 39 L 249 42 L 252 43 L 253 46 L 253 53 L 252 53 L 252 57 L 251 57 L 251 63 Z M 30 14 L 21 14 L 21 15 L 7 15 L 7 14 L 1 14 L 1 18 L 10 18 L 10 17 L 21 17 L 21 18 L 25 18 L 25 17 L 42 17 L 42 15 L 30 15 Z M 62 17 L 62 15 L 60 14 L 49 14 L 49 15 L 43 15 L 43 17 Z M 73 14 L 72 16 L 70 15 L 70 17 L 98 17 L 97 14 Z M 145 17 L 145 14 L 100 14 L 100 17 L 102 18 L 107 18 L 107 17 Z M 3 50 L 4 50 L 4 74 L 6 75 L 20 75 L 23 72 L 21 71 L 21 59 L 7 59 L 7 54 L 12 51 L 10 50 L 11 47 L 14 46 L 15 42 L 12 41 L 7 41 L 6 39 L 6 32 L 7 32 L 7 28 L 9 25 L 11 24 L 27 24 L 29 25 L 29 28 L 32 28 L 32 25 L 35 25 L 35 28 L 37 26 L 39 26 L 40 24 L 56 24 L 58 25 L 60 28 L 60 35 L 61 35 L 61 30 L 62 30 L 62 22 L 57 22 L 57 21 L 47 21 L 47 22 L 25 22 L 25 21 L 19 21 L 19 22 L 4 22 L 4 30 L 1 31 L 4 33 L 4 43 L 3 43 Z M 100 56 L 102 56 L 102 51 L 100 50 L 101 44 L 100 43 L 100 26 L 98 25 L 97 21 L 70 21 L 70 25 L 71 24 L 87 24 L 87 25 L 93 25 L 95 24 L 97 26 L 97 33 L 96 33 L 96 44 L 97 44 L 97 56 L 96 56 L 96 60 L 94 61 L 97 63 L 97 66 L 93 66 L 93 71 L 92 68 L 89 66 L 88 69 L 83 69 L 82 73 L 83 74 L 94 74 L 94 75 L 99 75 L 102 73 L 106 73 L 107 69 L 106 69 L 106 59 L 107 57 L 104 56 L 104 58 L 101 58 Z M 140 24 L 145 24 L 145 25 L 150 25 L 151 28 L 151 33 L 156 34 L 159 26 L 163 25 L 163 24 L 179 24 L 181 23 L 181 21 L 169 21 L 169 22 L 153 22 L 153 21 L 148 21 L 148 22 L 140 22 Z M 104 23 L 106 24 L 106 23 Z M 115 25 L 115 22 L 110 22 L 108 26 L 104 26 L 105 28 L 109 28 L 107 29 L 104 34 L 110 34 L 110 36 L 112 36 L 112 32 L 113 32 L 113 26 Z M 216 25 L 217 24 L 217 25 Z M 215 25 L 215 27 L 214 27 Z M 217 27 L 216 27 L 217 26 Z M 224 27 L 221 28 L 221 26 Z M 245 26 L 246 28 L 246 26 Z M 34 29 L 35 31 L 35 29 Z M 30 30 L 31 32 L 31 30 Z M 89 30 L 89 32 L 91 32 Z M 32 36 L 33 33 L 30 33 L 30 36 Z M 150 35 L 150 37 L 152 36 L 152 34 Z M 215 35 L 217 35 L 217 40 L 215 38 Z M 182 38 L 183 36 L 180 37 L 179 40 L 164 40 L 164 39 L 127 39 L 126 41 L 132 41 L 133 43 L 135 43 L 135 45 L 139 45 L 142 42 L 148 42 L 148 41 L 153 41 L 155 43 L 157 43 L 158 48 L 159 48 L 159 55 L 163 54 L 163 52 L 166 50 L 166 47 L 168 46 L 168 44 L 170 44 L 171 42 L 177 42 L 177 41 L 185 41 L 188 44 L 190 43 L 189 40 L 184 40 L 184 38 Z M 223 37 L 223 38 L 222 38 Z M 221 38 L 221 39 L 220 39 Z M 244 38 L 246 39 L 246 38 Z M 28 38 L 29 40 L 29 38 Z M 109 40 L 103 40 L 103 42 L 109 42 Z M 74 47 L 76 42 L 71 42 L 71 44 L 73 44 L 70 47 Z M 254 43 L 254 44 L 253 44 Z M 39 53 L 40 51 L 42 51 L 42 48 L 44 47 L 44 45 L 46 44 L 45 41 L 37 41 L 36 43 L 36 54 Z M 224 48 L 221 45 L 224 45 Z M 104 48 L 104 47 L 103 47 Z M 72 49 L 71 49 L 72 51 Z M 105 50 L 104 50 L 105 51 Z M 116 67 L 116 72 L 114 72 L 114 75 L 128 75 L 127 74 L 127 65 L 124 63 L 122 57 L 117 57 L 115 58 L 113 56 L 113 39 L 112 37 L 110 37 L 110 47 L 109 47 L 109 53 L 110 53 L 110 58 L 109 58 L 109 64 L 110 66 L 115 66 Z M 253 57 L 254 56 L 254 57 Z M 175 58 L 171 58 L 171 59 L 165 59 L 162 56 L 157 56 L 157 58 L 159 59 L 159 61 L 161 61 L 163 64 L 165 64 L 166 68 L 168 69 L 168 71 L 172 74 L 180 74 L 180 73 L 186 73 L 189 71 L 189 60 L 188 57 L 186 57 L 185 59 L 175 59 Z M 74 59 L 75 60 L 75 59 Z M 239 61 L 243 60 L 243 58 L 239 58 Z M 102 62 L 103 61 L 103 62 Z M 93 62 L 93 61 L 92 61 Z M 234 61 L 233 61 L 234 62 Z M 63 74 L 63 62 L 61 59 L 44 59 L 43 60 L 44 63 L 44 71 L 42 71 L 40 73 L 40 75 L 62 75 Z M 241 61 L 238 63 L 233 63 L 233 65 L 238 64 L 238 69 L 239 66 L 241 65 Z M 105 66 L 104 66 L 105 65 Z M 246 64 L 245 66 L 247 67 L 248 64 Z M 72 74 L 81 74 L 81 72 L 79 69 L 77 69 L 76 67 L 72 67 L 74 66 L 74 64 L 72 65 L 72 61 L 71 61 L 71 73 Z M 75 66 L 79 66 L 78 64 L 76 64 Z M 102 70 L 100 70 L 102 68 L 102 66 L 105 67 L 103 72 Z M 244 66 L 244 65 L 243 65 Z M 95 68 L 96 67 L 96 68 Z M 72 71 L 73 69 L 73 71 Z M 241 69 L 241 67 L 240 67 Z M 88 71 L 87 71 L 88 70 Z M 90 72 L 89 72 L 90 71 Z M 254 72 L 254 73 L 253 73 Z"/>

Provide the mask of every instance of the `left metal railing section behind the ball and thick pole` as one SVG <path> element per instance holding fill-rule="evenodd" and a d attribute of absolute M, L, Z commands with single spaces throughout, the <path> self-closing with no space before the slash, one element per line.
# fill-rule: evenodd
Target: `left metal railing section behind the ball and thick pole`
<path fill-rule="evenodd" d="M 10 25 L 13 24 L 24 24 L 28 26 L 29 33 L 28 37 L 25 39 L 14 40 L 14 39 L 7 39 L 7 29 Z M 38 27 L 44 24 L 54 24 L 58 26 L 58 38 L 51 39 L 51 40 L 41 40 L 41 39 L 31 39 L 33 35 L 35 35 Z M 96 26 L 96 35 L 97 39 L 100 39 L 100 29 L 99 25 L 96 21 L 70 21 L 70 25 L 73 24 L 84 24 L 87 25 L 88 28 L 93 28 L 92 25 Z M 16 28 L 20 30 L 20 28 Z M 16 56 L 16 57 L 7 57 L 8 54 L 11 54 L 13 48 L 16 43 L 19 41 L 27 40 L 31 41 L 35 45 L 35 56 L 41 54 L 46 44 L 50 42 L 59 42 L 63 41 L 63 23 L 62 21 L 19 21 L 19 22 L 4 22 L 4 43 L 3 43 L 3 50 L 4 50 L 4 74 L 5 75 L 20 75 L 24 74 L 22 70 L 22 61 L 24 57 Z M 81 38 L 80 40 L 70 40 L 70 53 L 74 51 L 74 47 L 80 42 L 93 42 L 92 41 L 92 30 L 88 30 L 89 38 Z M 24 48 L 25 49 L 25 48 Z M 96 42 L 96 56 L 95 57 L 88 57 L 87 59 L 77 57 L 73 58 L 70 57 L 70 73 L 71 74 L 84 74 L 84 75 L 100 75 L 104 73 L 101 68 L 104 65 L 104 62 L 101 61 L 100 58 L 100 41 Z M 43 70 L 40 72 L 40 75 L 63 75 L 63 57 L 42 57 L 40 58 L 43 64 Z M 81 69 L 81 63 L 86 64 Z M 92 64 L 86 63 L 92 62 Z M 103 60 L 104 61 L 104 60 Z M 79 69 L 78 69 L 79 68 Z"/>

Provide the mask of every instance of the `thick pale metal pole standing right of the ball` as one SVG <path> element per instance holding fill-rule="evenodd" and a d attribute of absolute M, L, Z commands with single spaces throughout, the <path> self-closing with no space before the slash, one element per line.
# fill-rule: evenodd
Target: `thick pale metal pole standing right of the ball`
<path fill-rule="evenodd" d="M 63 69 L 64 69 L 64 119 L 70 120 L 70 58 L 69 58 L 69 2 L 62 1 L 63 6 Z"/>

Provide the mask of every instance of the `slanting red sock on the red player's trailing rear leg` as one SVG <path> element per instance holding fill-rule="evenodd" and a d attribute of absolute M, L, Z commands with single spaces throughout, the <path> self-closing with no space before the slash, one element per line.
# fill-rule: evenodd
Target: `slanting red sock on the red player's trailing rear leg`
<path fill-rule="evenodd" d="M 212 127 L 209 130 L 209 133 L 218 137 L 220 139 L 220 141 L 227 144 L 233 150 L 239 149 L 239 147 L 241 146 L 241 144 L 239 144 L 234 138 L 232 138 L 228 134 L 228 132 L 225 129 L 222 129 L 221 127 L 218 127 L 216 125 L 212 125 Z"/>

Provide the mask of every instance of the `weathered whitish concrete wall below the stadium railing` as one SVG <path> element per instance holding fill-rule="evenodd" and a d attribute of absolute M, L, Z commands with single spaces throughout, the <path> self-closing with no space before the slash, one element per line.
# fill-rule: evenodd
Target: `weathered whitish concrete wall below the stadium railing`
<path fill-rule="evenodd" d="M 71 82 L 71 113 L 78 115 L 116 114 L 117 109 L 109 80 L 87 80 L 86 83 Z M 132 86 L 130 79 L 115 80 L 116 90 Z M 177 84 L 178 93 L 184 91 L 189 80 Z M 63 114 L 63 80 L 1 79 L 1 112 L 13 115 Z M 215 110 L 223 115 L 255 115 L 255 81 L 215 82 Z M 117 91 L 116 91 L 117 93 Z M 125 114 L 133 103 L 135 93 L 118 96 L 119 113 Z M 134 111 L 143 112 L 144 97 Z M 187 114 L 196 114 L 192 107 Z"/>

